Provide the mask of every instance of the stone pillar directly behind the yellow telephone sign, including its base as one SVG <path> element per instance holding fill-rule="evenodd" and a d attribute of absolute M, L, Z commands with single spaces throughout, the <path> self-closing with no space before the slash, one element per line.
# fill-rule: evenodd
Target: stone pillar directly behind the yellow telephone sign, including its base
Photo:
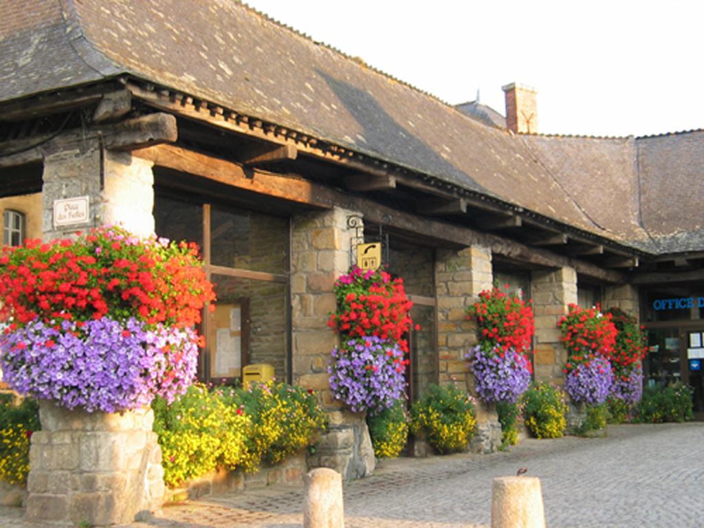
<path fill-rule="evenodd" d="M 350 265 L 356 234 L 347 225 L 351 215 L 358 213 L 336 207 L 294 216 L 291 244 L 293 382 L 318 392 L 329 414 L 329 428 L 308 463 L 330 467 L 346 480 L 365 477 L 375 467 L 364 413 L 351 413 L 332 398 L 327 373 L 339 339 L 327 326 L 337 308 L 332 287 Z"/>

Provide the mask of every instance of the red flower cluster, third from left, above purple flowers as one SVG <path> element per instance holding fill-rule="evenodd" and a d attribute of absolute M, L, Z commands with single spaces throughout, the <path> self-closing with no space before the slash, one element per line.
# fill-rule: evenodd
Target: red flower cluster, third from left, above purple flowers
<path fill-rule="evenodd" d="M 468 308 L 467 318 L 477 320 L 479 341 L 486 343 L 486 350 L 498 346 L 504 351 L 509 348 L 518 353 L 530 351 L 535 332 L 533 310 L 520 298 L 498 287 L 484 290 L 479 294 L 479 301 Z"/>

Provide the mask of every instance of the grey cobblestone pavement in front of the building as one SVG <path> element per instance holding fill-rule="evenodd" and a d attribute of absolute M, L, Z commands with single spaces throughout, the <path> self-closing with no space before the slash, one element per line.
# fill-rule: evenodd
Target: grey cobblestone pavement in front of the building
<path fill-rule="evenodd" d="M 346 485 L 346 527 L 487 527 L 491 479 L 519 467 L 540 477 L 551 528 L 700 527 L 703 440 L 702 422 L 621 425 L 603 439 L 529 439 L 508 453 L 388 461 Z M 188 501 L 129 528 L 300 527 L 302 496 L 271 486 Z M 21 517 L 0 508 L 0 527 L 32 527 Z"/>

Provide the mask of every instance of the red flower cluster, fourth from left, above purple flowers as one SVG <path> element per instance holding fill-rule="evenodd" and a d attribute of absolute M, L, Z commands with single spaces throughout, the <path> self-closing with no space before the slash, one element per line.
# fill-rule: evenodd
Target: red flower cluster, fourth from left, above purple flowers
<path fill-rule="evenodd" d="M 570 304 L 570 311 L 560 318 L 558 326 L 562 330 L 560 339 L 567 347 L 571 360 L 589 354 L 610 357 L 617 330 L 609 313 L 601 314 L 598 307 L 583 310 L 576 304 Z"/>

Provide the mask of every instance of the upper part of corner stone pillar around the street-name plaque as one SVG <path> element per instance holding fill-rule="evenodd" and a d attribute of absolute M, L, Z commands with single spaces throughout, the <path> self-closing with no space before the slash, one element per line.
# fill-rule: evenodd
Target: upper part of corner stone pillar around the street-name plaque
<path fill-rule="evenodd" d="M 152 163 L 129 152 L 101 151 L 97 144 L 61 151 L 44 159 L 42 187 L 44 239 L 106 224 L 135 234 L 154 231 Z M 54 201 L 88 196 L 87 222 L 55 228 Z"/>

